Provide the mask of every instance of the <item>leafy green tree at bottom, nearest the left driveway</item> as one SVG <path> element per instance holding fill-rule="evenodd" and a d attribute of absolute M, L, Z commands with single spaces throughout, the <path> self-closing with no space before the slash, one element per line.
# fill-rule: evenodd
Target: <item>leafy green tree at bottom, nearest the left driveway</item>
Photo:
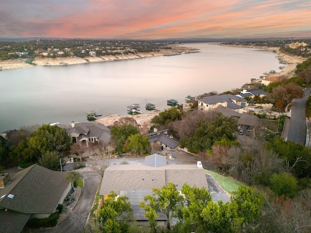
<path fill-rule="evenodd" d="M 117 198 L 117 194 L 111 191 L 98 212 L 97 220 L 101 223 L 100 229 L 107 233 L 127 232 L 127 221 L 132 217 L 132 213 L 133 210 L 128 197 Z M 119 216 L 121 216 L 121 221 L 117 222 Z"/>

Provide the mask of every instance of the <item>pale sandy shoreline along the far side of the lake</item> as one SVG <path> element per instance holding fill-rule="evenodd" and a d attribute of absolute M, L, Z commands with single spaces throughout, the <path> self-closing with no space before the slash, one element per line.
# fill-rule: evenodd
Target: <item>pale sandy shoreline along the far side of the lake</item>
<path fill-rule="evenodd" d="M 172 49 L 162 49 L 160 51 L 153 52 L 138 52 L 138 53 L 129 53 L 129 54 L 118 54 L 118 55 L 104 55 L 104 56 L 88 56 L 85 58 L 81 57 L 58 57 L 58 58 L 41 58 L 36 57 L 33 61 L 33 64 L 27 63 L 26 59 L 11 59 L 0 61 L 0 67 L 2 70 L 5 69 L 17 69 L 17 68 L 27 68 L 34 66 L 45 66 L 49 64 L 49 66 L 62 66 L 62 64 L 74 65 L 74 64 L 87 64 L 93 62 L 112 62 L 112 61 L 121 61 L 121 60 L 134 60 L 141 59 L 147 57 L 155 57 L 155 56 L 164 56 L 167 54 L 172 54 L 176 52 L 192 52 L 198 51 L 196 48 L 185 47 L 185 45 L 174 45 Z"/>

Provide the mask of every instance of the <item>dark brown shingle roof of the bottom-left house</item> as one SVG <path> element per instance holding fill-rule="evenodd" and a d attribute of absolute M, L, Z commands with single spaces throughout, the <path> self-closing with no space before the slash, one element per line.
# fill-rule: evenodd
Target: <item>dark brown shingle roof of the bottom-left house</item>
<path fill-rule="evenodd" d="M 69 186 L 66 172 L 32 165 L 17 172 L 0 189 L 0 207 L 20 213 L 53 213 Z M 14 195 L 11 199 L 9 194 Z"/>

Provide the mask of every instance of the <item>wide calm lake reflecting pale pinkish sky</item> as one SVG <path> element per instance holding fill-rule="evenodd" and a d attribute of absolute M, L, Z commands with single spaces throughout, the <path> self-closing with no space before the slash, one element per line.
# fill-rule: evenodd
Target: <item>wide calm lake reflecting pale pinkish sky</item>
<path fill-rule="evenodd" d="M 276 53 L 217 44 L 186 44 L 200 53 L 137 60 L 30 67 L 0 72 L 0 132 L 33 124 L 87 122 L 86 111 L 127 115 L 145 100 L 166 109 L 167 99 L 226 91 L 279 71 Z"/>

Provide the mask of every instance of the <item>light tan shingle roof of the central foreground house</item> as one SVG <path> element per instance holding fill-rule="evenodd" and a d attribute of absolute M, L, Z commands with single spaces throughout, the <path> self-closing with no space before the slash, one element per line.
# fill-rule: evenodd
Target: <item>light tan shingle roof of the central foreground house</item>
<path fill-rule="evenodd" d="M 100 195 L 109 194 L 111 190 L 117 194 L 121 190 L 151 190 L 170 182 L 178 184 L 178 190 L 184 183 L 207 188 L 204 169 L 196 165 L 111 165 L 104 171 Z"/>

